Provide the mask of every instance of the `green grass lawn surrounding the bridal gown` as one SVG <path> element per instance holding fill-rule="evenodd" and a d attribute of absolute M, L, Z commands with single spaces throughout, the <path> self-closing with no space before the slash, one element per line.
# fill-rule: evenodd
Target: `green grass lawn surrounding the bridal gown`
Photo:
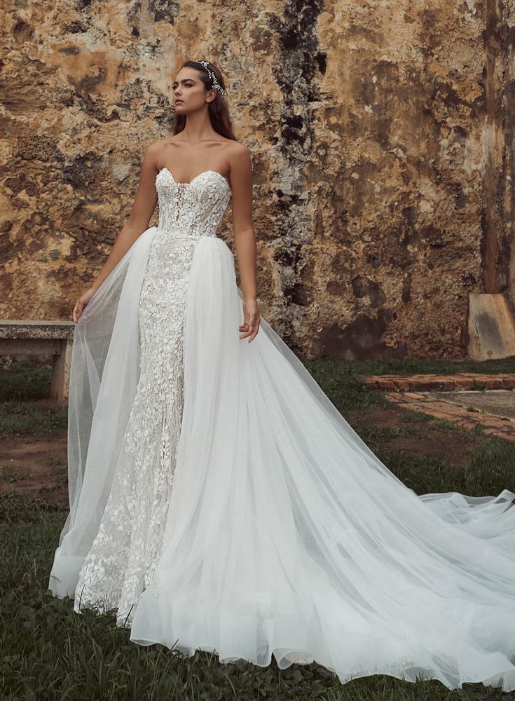
<path fill-rule="evenodd" d="M 448 364 L 427 363 L 428 372 Z M 476 364 L 477 365 L 477 364 Z M 397 367 L 398 366 L 398 367 Z M 404 366 L 402 370 L 399 367 Z M 515 447 L 424 414 L 392 409 L 380 393 L 359 381 L 359 372 L 409 372 L 406 361 L 384 364 L 310 361 L 306 367 L 380 458 L 418 494 L 461 491 L 499 494 L 515 491 Z M 412 372 L 424 372 L 417 361 Z M 449 366 L 450 367 L 450 366 Z M 455 367 L 455 365 L 453 365 Z M 491 372 L 514 372 L 514 363 Z M 378 368 L 380 368 L 378 370 Z M 486 372 L 481 364 L 481 372 Z M 460 368 L 464 369 L 465 368 Z M 467 367 L 469 372 L 471 368 Z M 449 372 L 451 372 L 449 370 Z M 0 371 L 0 431 L 4 440 L 18 435 L 53 435 L 66 426 L 66 412 L 46 397 L 48 368 L 16 365 Z M 384 411 L 399 421 L 380 426 Z M 434 437 L 459 444 L 460 460 L 430 454 Z M 412 452 L 399 449 L 411 441 Z M 453 456 L 458 456 L 454 453 Z M 12 479 L 12 475 L 9 479 Z M 188 700 L 239 701 L 444 701 L 514 699 L 479 684 L 449 691 L 438 681 L 409 683 L 374 675 L 341 684 L 334 674 L 313 664 L 280 670 L 273 660 L 261 668 L 241 661 L 220 664 L 216 655 L 192 658 L 167 648 L 142 648 L 115 625 L 113 615 L 74 613 L 71 599 L 48 592 L 48 576 L 67 508 L 46 499 L 29 499 L 8 484 L 0 499 L 0 699 L 1 700 Z"/>

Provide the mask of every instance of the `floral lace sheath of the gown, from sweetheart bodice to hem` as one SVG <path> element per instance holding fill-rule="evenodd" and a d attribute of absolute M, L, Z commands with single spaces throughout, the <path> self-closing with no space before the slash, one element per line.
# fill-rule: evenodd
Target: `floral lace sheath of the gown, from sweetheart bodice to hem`
<path fill-rule="evenodd" d="M 184 399 L 183 341 L 188 274 L 200 236 L 216 236 L 231 187 L 214 170 L 191 183 L 166 168 L 156 177 L 158 230 L 139 297 L 140 373 L 111 493 L 85 557 L 74 608 L 116 609 L 130 627 L 153 582 L 172 494 Z"/>

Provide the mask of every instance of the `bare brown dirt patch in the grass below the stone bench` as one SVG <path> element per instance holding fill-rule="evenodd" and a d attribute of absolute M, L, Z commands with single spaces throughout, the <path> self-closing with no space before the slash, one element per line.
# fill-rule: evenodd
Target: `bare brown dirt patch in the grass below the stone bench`
<path fill-rule="evenodd" d="M 0 494 L 68 503 L 67 432 L 49 438 L 4 438 L 0 447 Z"/>

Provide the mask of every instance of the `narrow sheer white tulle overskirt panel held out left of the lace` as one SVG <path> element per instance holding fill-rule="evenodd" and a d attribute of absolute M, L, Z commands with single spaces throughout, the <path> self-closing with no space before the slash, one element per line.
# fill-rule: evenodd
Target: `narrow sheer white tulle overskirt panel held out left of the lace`
<path fill-rule="evenodd" d="M 142 233 L 104 280 L 75 325 L 68 403 L 70 512 L 50 573 L 50 589 L 74 596 L 97 535 L 139 379 L 138 301 L 156 227 Z"/>

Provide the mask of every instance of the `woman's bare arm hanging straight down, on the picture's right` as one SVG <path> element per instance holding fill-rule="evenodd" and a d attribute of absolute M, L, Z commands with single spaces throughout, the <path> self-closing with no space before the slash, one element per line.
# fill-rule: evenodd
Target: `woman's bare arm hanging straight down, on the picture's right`
<path fill-rule="evenodd" d="M 243 294 L 243 324 L 241 339 L 249 343 L 259 331 L 259 308 L 256 299 L 256 234 L 252 223 L 252 161 L 245 144 L 234 144 L 230 158 L 233 204 L 233 229 L 236 257 Z"/>

